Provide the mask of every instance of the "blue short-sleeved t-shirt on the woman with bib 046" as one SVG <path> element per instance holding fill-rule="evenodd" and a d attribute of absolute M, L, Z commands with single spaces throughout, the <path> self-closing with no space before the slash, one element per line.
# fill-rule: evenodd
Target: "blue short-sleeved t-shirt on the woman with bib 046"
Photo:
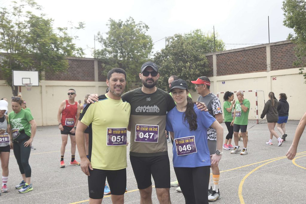
<path fill-rule="evenodd" d="M 196 105 L 193 110 L 197 115 L 198 128 L 190 131 L 184 113 L 177 110 L 176 106 L 167 113 L 166 130 L 174 132 L 174 139 L 194 136 L 197 152 L 177 156 L 175 142 L 173 142 L 173 166 L 174 167 L 199 167 L 210 166 L 210 154 L 207 146 L 207 129 L 215 122 L 215 118 L 206 111 L 200 111 Z"/>

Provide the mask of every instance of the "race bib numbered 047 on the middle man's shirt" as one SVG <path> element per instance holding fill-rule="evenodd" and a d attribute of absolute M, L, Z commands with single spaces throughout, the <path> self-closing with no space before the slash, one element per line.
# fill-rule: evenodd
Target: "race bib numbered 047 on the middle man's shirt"
<path fill-rule="evenodd" d="M 158 142 L 158 125 L 136 125 L 135 142 Z"/>

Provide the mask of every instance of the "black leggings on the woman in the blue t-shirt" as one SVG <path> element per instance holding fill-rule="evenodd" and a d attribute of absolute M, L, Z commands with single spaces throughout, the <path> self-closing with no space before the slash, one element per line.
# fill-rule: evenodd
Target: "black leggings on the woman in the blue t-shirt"
<path fill-rule="evenodd" d="M 184 195 L 185 204 L 208 204 L 210 166 L 174 167 L 174 171 Z"/>

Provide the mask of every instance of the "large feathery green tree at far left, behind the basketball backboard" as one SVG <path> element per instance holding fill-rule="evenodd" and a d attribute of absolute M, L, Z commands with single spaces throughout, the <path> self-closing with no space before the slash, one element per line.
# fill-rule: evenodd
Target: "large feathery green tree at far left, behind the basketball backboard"
<path fill-rule="evenodd" d="M 53 29 L 53 20 L 44 14 L 35 15 L 42 7 L 33 0 L 12 2 L 12 8 L 0 11 L 0 50 L 5 58 L 0 61 L 0 71 L 14 96 L 18 87 L 12 84 L 12 70 L 37 70 L 41 72 L 64 71 L 69 56 L 82 56 L 82 48 L 76 47 L 68 28 Z M 28 10 L 27 10 L 28 9 Z M 84 28 L 84 23 L 69 29 Z"/>

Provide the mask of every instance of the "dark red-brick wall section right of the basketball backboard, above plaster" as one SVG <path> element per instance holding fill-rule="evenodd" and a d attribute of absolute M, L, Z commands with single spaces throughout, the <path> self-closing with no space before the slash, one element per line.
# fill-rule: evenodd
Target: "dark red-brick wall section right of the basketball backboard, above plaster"
<path fill-rule="evenodd" d="M 65 72 L 45 72 L 45 80 L 95 81 L 94 60 L 68 59 Z"/>

